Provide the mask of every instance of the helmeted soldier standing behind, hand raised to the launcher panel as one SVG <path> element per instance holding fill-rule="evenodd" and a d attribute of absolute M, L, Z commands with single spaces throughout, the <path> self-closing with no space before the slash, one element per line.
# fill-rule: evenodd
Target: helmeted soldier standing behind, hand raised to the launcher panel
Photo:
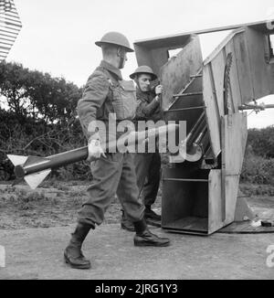
<path fill-rule="evenodd" d="M 161 120 L 161 110 L 159 96 L 163 92 L 162 85 L 158 85 L 152 90 L 152 81 L 157 80 L 153 69 L 148 66 L 141 66 L 136 69 L 130 78 L 137 85 L 137 110 L 135 121 L 153 121 Z M 137 124 L 137 123 L 136 123 Z M 137 176 L 137 186 L 141 192 L 144 203 L 144 218 L 161 220 L 161 216 L 152 210 L 161 179 L 161 156 L 159 151 L 154 153 L 134 154 L 134 165 Z M 146 179 L 146 182 L 145 182 Z M 134 231 L 132 222 L 127 218 L 122 210 L 121 228 Z"/>

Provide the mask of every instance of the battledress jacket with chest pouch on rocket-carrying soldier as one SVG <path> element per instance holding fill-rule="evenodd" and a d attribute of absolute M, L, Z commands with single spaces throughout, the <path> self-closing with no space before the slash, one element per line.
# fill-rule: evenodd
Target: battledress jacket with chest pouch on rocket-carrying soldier
<path fill-rule="evenodd" d="M 90 75 L 82 99 L 78 102 L 77 109 L 83 133 L 88 140 L 100 139 L 106 142 L 105 135 L 94 129 L 97 121 L 105 123 L 108 135 L 110 114 L 115 114 L 117 122 L 132 120 L 136 112 L 136 103 L 133 82 L 122 80 L 120 69 L 102 60 L 100 66 Z M 121 134 L 117 133 L 117 137 Z"/>

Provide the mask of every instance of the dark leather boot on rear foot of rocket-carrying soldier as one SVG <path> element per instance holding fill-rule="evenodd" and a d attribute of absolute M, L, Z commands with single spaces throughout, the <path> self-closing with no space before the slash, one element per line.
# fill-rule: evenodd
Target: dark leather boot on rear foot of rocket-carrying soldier
<path fill-rule="evenodd" d="M 79 223 L 71 234 L 71 239 L 68 247 L 64 251 L 64 258 L 72 268 L 76 269 L 90 269 L 90 261 L 87 260 L 81 250 L 82 243 L 89 234 L 91 226 Z"/>

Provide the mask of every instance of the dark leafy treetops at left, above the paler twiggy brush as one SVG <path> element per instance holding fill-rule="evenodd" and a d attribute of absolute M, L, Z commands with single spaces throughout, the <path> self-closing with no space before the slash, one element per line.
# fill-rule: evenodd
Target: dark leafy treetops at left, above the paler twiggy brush
<path fill-rule="evenodd" d="M 2 106 L 5 104 L 18 119 L 32 117 L 46 122 L 69 121 L 81 96 L 81 89 L 63 78 L 6 62 L 0 64 L 0 92 Z"/>

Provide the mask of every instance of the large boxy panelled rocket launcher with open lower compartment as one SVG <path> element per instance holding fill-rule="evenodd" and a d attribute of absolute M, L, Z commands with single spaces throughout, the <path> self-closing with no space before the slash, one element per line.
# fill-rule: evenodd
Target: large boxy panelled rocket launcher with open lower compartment
<path fill-rule="evenodd" d="M 203 61 L 198 35 L 229 29 Z M 186 160 L 163 169 L 163 229 L 209 235 L 252 217 L 237 197 L 248 135 L 240 107 L 274 93 L 273 34 L 265 21 L 134 43 L 138 65 L 161 78 L 164 120 L 186 121 Z"/>

